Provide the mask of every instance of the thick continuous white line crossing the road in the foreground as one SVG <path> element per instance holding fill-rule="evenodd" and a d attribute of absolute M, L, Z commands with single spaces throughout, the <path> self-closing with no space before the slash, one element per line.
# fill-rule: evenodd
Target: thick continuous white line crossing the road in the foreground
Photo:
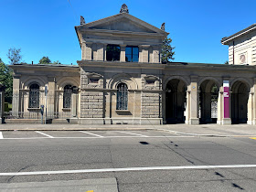
<path fill-rule="evenodd" d="M 149 166 L 127 168 L 101 168 L 60 171 L 35 171 L 35 172 L 9 172 L 0 173 L 0 176 L 35 176 L 53 174 L 82 174 L 103 172 L 126 172 L 126 171 L 153 171 L 153 170 L 183 170 L 183 169 L 219 169 L 219 168 L 256 168 L 256 165 L 188 165 L 188 166 Z"/>

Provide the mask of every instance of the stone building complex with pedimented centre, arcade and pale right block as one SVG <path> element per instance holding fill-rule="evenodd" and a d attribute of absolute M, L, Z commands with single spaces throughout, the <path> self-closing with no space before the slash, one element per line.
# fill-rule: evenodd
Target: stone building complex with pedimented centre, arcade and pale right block
<path fill-rule="evenodd" d="M 229 65 L 162 64 L 165 27 L 120 14 L 75 27 L 78 66 L 13 65 L 9 121 L 81 124 L 256 123 L 256 25 L 224 37 Z M 47 90 L 47 91 L 46 91 Z M 44 114 L 45 115 L 45 114 Z"/>

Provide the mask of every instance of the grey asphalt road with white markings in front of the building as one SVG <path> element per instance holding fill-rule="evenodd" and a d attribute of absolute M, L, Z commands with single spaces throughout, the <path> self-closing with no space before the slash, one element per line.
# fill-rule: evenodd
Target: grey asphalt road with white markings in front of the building
<path fill-rule="evenodd" d="M 94 189 L 82 188 L 95 192 L 106 178 L 120 192 L 255 191 L 255 146 L 249 137 L 156 131 L 2 132 L 0 183 L 8 191 L 9 184 L 40 182 L 50 191 L 52 182 L 95 179 Z"/>

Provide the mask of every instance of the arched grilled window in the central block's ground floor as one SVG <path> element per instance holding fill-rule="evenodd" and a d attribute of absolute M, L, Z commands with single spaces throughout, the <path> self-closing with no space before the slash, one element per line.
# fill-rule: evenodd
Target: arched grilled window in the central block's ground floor
<path fill-rule="evenodd" d="M 127 110 L 128 108 L 128 89 L 125 83 L 120 83 L 117 86 L 117 110 Z"/>

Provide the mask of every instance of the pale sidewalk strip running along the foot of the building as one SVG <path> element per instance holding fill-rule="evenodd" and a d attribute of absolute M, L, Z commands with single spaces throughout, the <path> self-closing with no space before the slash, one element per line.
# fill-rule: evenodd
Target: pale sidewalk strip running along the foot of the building
<path fill-rule="evenodd" d="M 255 136 L 256 125 L 248 124 L 164 124 L 164 125 L 82 125 L 82 124 L 0 124 L 0 131 L 76 131 L 76 130 L 160 130 L 195 136 Z"/>

